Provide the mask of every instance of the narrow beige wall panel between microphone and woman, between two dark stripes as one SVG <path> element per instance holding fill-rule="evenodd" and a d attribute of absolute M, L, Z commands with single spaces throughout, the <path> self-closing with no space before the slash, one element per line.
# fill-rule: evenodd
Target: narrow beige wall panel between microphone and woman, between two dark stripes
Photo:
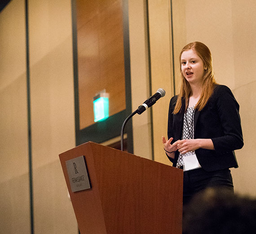
<path fill-rule="evenodd" d="M 152 107 L 154 160 L 169 164 L 163 151 L 162 136 L 167 138 L 168 107 L 173 96 L 171 2 L 150 0 L 148 5 L 151 92 L 154 94 L 159 88 L 166 91 L 165 97 Z"/>

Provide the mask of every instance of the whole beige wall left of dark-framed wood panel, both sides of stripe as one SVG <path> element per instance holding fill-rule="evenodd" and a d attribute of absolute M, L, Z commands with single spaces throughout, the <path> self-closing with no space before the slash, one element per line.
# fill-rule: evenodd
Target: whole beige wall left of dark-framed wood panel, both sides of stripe
<path fill-rule="evenodd" d="M 29 0 L 34 233 L 77 234 L 58 154 L 75 147 L 70 0 Z M 25 1 L 0 13 L 0 233 L 30 233 Z"/>

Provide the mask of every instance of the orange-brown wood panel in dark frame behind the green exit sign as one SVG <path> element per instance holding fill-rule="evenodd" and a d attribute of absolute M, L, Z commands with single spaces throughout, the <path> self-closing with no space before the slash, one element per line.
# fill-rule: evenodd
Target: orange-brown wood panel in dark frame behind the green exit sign
<path fill-rule="evenodd" d="M 77 0 L 80 129 L 94 124 L 93 97 L 106 89 L 109 115 L 126 108 L 122 0 Z"/>

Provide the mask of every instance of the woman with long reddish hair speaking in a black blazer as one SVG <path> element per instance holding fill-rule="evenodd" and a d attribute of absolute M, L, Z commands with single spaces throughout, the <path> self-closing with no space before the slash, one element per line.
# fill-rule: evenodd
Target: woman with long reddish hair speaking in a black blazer
<path fill-rule="evenodd" d="M 184 170 L 183 204 L 206 187 L 234 193 L 230 168 L 238 167 L 234 150 L 243 147 L 239 105 L 230 89 L 215 82 L 212 55 L 200 42 L 180 53 L 181 89 L 170 100 L 168 140 L 164 150 L 173 166 Z"/>

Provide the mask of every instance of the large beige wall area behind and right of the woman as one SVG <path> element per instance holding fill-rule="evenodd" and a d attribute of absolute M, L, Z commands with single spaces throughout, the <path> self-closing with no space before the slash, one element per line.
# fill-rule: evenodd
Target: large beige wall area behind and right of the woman
<path fill-rule="evenodd" d="M 244 147 L 236 151 L 238 169 L 232 169 L 235 191 L 256 195 L 251 178 L 256 176 L 254 136 L 256 124 L 256 79 L 251 69 L 256 60 L 256 2 L 197 0 L 185 1 L 186 43 L 201 41 L 210 48 L 217 82 L 231 88 L 238 103 Z M 179 24 L 180 22 L 175 22 Z M 175 32 L 174 32 L 175 33 Z M 178 40 L 176 35 L 174 39 Z M 178 54 L 176 54 L 178 56 Z"/>

